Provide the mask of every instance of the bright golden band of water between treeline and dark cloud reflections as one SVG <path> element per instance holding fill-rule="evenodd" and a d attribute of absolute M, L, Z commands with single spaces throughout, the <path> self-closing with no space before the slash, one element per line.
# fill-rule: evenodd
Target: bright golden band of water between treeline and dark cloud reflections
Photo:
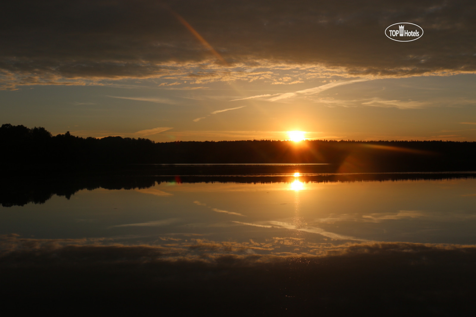
<path fill-rule="evenodd" d="M 52 195 L 42 204 L 0 207 L 0 234 L 160 245 L 174 256 L 321 254 L 371 241 L 476 243 L 474 178 L 316 182 L 306 175 L 283 177 L 224 183 L 203 176 L 194 183 L 178 178 L 152 181 L 147 188 L 83 189 L 69 200 Z"/>

